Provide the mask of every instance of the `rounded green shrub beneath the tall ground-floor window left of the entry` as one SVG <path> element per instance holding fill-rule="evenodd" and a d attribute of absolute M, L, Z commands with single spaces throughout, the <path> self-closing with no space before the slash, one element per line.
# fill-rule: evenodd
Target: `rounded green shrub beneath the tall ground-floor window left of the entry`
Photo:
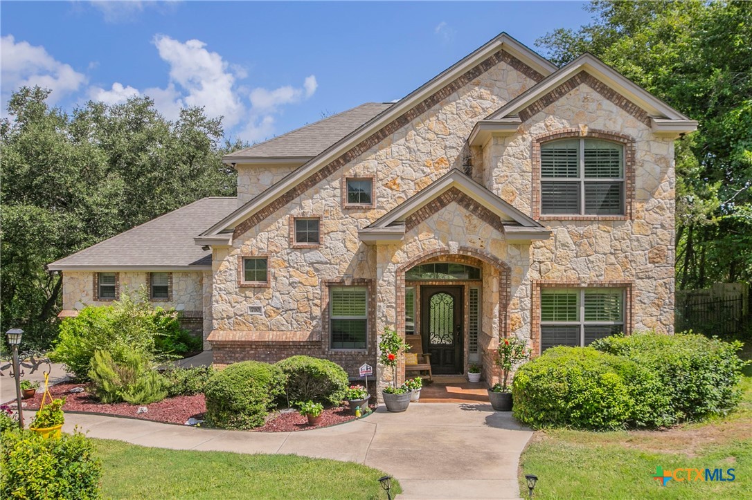
<path fill-rule="evenodd" d="M 310 356 L 293 356 L 276 366 L 284 375 L 288 401 L 318 401 L 336 405 L 349 387 L 347 372 L 337 363 Z"/>

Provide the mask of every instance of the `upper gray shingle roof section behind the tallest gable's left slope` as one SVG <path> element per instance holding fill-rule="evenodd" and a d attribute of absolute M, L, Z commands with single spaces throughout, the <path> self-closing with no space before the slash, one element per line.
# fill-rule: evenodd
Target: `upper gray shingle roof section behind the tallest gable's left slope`
<path fill-rule="evenodd" d="M 232 161 L 233 158 L 312 158 L 391 105 L 392 103 L 388 102 L 367 102 L 250 148 L 232 152 L 224 159 Z"/>

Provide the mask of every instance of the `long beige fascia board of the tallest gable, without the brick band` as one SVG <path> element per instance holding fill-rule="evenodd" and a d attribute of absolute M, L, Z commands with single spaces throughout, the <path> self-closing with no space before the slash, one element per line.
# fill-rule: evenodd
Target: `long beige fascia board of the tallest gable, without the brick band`
<path fill-rule="evenodd" d="M 325 167 L 327 164 L 337 159 L 339 156 L 343 155 L 344 152 L 347 151 L 347 149 L 350 149 L 360 141 L 364 140 L 373 131 L 378 130 L 384 125 L 387 125 L 387 123 L 389 123 L 396 117 L 402 116 L 402 114 L 410 110 L 415 104 L 423 101 L 423 99 L 425 99 L 429 95 L 432 95 L 447 83 L 455 80 L 456 77 L 464 74 L 465 71 L 474 68 L 475 65 L 478 64 L 478 62 L 481 62 L 488 56 L 491 56 L 497 50 L 501 50 L 502 48 L 506 49 L 507 47 L 511 46 L 518 47 L 517 50 L 524 50 L 525 53 L 527 53 L 526 57 L 520 59 L 523 60 L 523 62 L 529 63 L 530 59 L 533 58 L 533 55 L 542 59 L 541 56 L 538 56 L 532 50 L 524 47 L 522 44 L 515 41 L 506 33 L 502 33 L 496 38 L 493 38 L 493 40 L 484 44 L 478 50 L 475 50 L 475 52 L 469 54 L 468 56 L 465 56 L 465 58 L 463 59 L 460 59 L 454 65 L 450 66 L 450 68 L 447 68 L 437 76 L 433 77 L 423 86 L 420 86 L 418 89 L 408 94 L 405 98 L 397 101 L 393 106 L 388 107 L 386 110 L 374 116 L 374 118 L 368 120 L 368 122 L 360 125 L 358 128 L 356 128 L 356 130 L 354 130 L 350 134 L 347 134 L 341 140 L 338 140 L 336 143 L 332 144 L 332 146 L 329 146 L 329 148 L 324 150 L 320 155 L 313 158 L 311 161 L 308 161 L 308 163 L 304 164 L 299 169 L 289 173 L 283 179 L 280 179 L 279 182 L 272 185 L 265 191 L 262 191 L 262 193 L 260 193 L 258 196 L 253 197 L 252 200 L 249 200 L 243 206 L 240 206 L 237 210 L 235 210 L 235 212 L 227 215 L 221 221 L 217 222 L 217 224 L 214 224 L 214 226 L 210 227 L 208 230 L 202 233 L 202 235 L 213 234 L 217 233 L 220 230 L 235 227 L 235 225 L 250 217 L 250 215 L 253 215 L 253 213 L 258 211 L 259 209 L 262 209 L 262 207 L 266 206 L 268 203 L 271 203 L 271 201 L 279 197 L 281 194 L 284 194 L 299 182 L 307 179 L 308 176 L 311 176 L 321 168 Z M 541 64 L 541 62 L 538 61 L 538 64 Z M 550 66 L 553 67 L 553 65 Z"/>

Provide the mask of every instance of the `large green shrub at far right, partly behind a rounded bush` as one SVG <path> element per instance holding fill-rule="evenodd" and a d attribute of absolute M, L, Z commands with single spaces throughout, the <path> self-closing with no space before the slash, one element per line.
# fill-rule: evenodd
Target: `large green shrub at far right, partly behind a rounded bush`
<path fill-rule="evenodd" d="M 670 423 L 723 414 L 741 396 L 738 383 L 746 364 L 736 354 L 741 342 L 722 342 L 691 332 L 644 332 L 599 339 L 593 348 L 629 358 L 654 372 L 670 398 Z"/>

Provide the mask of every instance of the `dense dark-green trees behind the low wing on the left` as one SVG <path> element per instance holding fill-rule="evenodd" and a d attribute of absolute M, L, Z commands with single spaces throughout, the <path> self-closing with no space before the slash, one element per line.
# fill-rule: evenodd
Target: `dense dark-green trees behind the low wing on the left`
<path fill-rule="evenodd" d="M 0 122 L 2 331 L 26 330 L 29 345 L 56 335 L 62 280 L 44 265 L 206 196 L 234 196 L 222 164 L 221 119 L 202 108 L 174 122 L 150 98 L 65 113 L 47 89 L 24 87 Z"/>

